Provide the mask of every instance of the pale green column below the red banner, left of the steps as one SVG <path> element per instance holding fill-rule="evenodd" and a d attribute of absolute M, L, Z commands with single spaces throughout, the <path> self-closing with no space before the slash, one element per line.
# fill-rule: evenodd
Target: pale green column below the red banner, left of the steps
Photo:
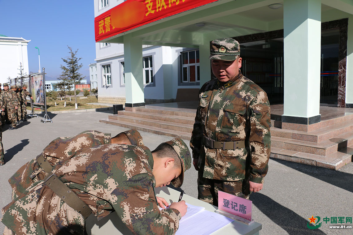
<path fill-rule="evenodd" d="M 124 35 L 125 110 L 144 106 L 142 39 Z"/>

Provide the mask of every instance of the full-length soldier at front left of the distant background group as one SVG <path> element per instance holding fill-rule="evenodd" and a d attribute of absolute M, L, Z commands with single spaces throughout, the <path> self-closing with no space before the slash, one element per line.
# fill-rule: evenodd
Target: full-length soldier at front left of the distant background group
<path fill-rule="evenodd" d="M 4 112 L 7 110 L 8 120 L 11 122 L 9 130 L 16 129 L 17 122 L 17 109 L 19 101 L 17 99 L 16 92 L 12 89 L 8 89 L 8 84 L 4 83 L 4 91 L 2 91 L 3 101 L 0 104 L 1 110 Z"/>

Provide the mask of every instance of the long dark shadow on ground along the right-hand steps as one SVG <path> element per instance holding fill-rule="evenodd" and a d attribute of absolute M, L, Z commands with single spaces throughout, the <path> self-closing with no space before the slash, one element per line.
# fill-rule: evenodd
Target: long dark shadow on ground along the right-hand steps
<path fill-rule="evenodd" d="M 335 185 L 336 187 L 340 187 L 349 192 L 353 192 L 353 184 L 348 183 L 348 182 L 352 182 L 353 174 L 341 172 L 341 171 L 334 171 L 323 167 L 303 165 L 300 163 L 284 161 L 276 158 L 271 158 L 271 159 L 287 167 L 291 167 L 297 171 L 300 171 L 304 174 L 310 175 L 319 180 Z"/>

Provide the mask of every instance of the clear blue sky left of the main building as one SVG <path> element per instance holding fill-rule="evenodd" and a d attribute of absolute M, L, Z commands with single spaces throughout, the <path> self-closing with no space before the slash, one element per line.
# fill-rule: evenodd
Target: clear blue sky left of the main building
<path fill-rule="evenodd" d="M 0 34 L 31 40 L 27 47 L 29 72 L 38 72 L 38 47 L 46 80 L 56 80 L 69 46 L 78 49 L 83 64 L 80 73 L 89 80 L 88 65 L 96 58 L 94 1 L 0 0 L 0 12 Z"/>

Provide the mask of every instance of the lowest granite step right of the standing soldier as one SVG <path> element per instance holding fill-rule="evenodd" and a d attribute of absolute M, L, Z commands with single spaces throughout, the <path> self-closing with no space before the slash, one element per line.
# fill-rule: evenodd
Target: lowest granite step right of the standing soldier
<path fill-rule="evenodd" d="M 293 155 L 291 156 L 291 155 L 279 154 L 278 152 L 285 149 L 278 149 L 278 148 L 275 148 L 275 149 L 277 150 L 276 153 L 272 153 L 272 150 L 271 150 L 270 158 L 276 158 L 276 159 L 281 159 L 281 160 L 290 161 L 290 162 L 297 162 L 304 165 L 318 166 L 318 167 L 328 168 L 332 170 L 337 170 L 352 161 L 352 155 L 349 155 L 349 154 L 343 154 L 339 158 L 334 156 L 335 153 L 326 156 L 327 160 L 330 160 L 330 159 L 331 160 L 335 159 L 336 161 L 339 160 L 336 163 L 331 163 L 325 160 L 307 159 L 303 156 L 298 157 Z M 310 155 L 315 156 L 315 154 L 310 154 Z M 321 155 L 316 155 L 316 156 L 321 158 L 323 157 Z"/>

